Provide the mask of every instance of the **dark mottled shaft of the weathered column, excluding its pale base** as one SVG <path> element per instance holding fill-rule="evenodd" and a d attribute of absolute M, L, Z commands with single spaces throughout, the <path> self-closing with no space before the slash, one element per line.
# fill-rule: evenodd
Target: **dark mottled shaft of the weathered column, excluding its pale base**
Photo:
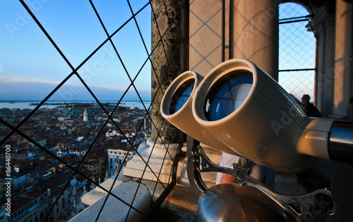
<path fill-rule="evenodd" d="M 151 118 L 155 125 L 152 124 L 151 140 L 160 144 L 177 144 L 179 139 L 174 126 L 160 114 L 160 103 L 170 83 L 181 74 L 181 4 L 182 1 L 174 0 L 152 1 L 152 49 L 155 51 L 152 52 Z"/>

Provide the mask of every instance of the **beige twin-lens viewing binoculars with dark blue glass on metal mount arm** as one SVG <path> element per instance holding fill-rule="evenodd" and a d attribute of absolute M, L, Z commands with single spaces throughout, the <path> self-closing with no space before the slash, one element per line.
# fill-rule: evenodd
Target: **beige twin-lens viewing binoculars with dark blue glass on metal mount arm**
<path fill-rule="evenodd" d="M 223 62 L 204 78 L 193 71 L 184 72 L 164 94 L 161 113 L 193 139 L 275 170 L 300 172 L 311 168 L 317 158 L 347 160 L 353 156 L 351 123 L 307 117 L 291 95 L 246 59 Z M 347 146 L 351 148 L 342 148 Z M 194 153 L 201 155 L 192 156 Z M 227 171 L 213 165 L 202 148 L 200 152 L 188 150 L 188 158 L 189 180 L 199 196 L 207 189 L 199 173 L 217 171 L 234 175 L 239 184 L 250 183 L 278 199 L 270 189 L 258 187 L 258 181 L 240 177 L 242 168 Z M 207 164 L 195 165 L 199 162 Z M 328 191 L 321 193 L 330 196 Z"/>

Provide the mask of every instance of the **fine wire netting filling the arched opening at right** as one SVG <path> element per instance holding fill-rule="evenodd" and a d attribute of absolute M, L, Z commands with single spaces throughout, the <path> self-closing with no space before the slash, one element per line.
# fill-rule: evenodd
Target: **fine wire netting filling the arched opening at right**
<path fill-rule="evenodd" d="M 299 4 L 280 4 L 280 85 L 297 98 L 315 96 L 316 38 L 308 31 L 310 18 Z M 315 101 L 315 100 L 314 100 Z"/>

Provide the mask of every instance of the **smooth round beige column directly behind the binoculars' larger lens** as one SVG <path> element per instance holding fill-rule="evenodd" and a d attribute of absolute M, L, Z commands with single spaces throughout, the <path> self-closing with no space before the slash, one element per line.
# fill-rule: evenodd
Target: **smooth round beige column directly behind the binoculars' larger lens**
<path fill-rule="evenodd" d="M 233 47 L 234 58 L 249 59 L 278 80 L 277 1 L 236 1 Z"/>

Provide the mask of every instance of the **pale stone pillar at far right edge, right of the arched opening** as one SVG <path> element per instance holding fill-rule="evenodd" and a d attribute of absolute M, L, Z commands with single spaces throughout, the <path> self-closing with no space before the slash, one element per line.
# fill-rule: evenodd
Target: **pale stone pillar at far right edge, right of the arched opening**
<path fill-rule="evenodd" d="M 350 115 L 349 98 L 353 96 L 353 4 L 336 1 L 335 35 L 335 117 Z"/>

